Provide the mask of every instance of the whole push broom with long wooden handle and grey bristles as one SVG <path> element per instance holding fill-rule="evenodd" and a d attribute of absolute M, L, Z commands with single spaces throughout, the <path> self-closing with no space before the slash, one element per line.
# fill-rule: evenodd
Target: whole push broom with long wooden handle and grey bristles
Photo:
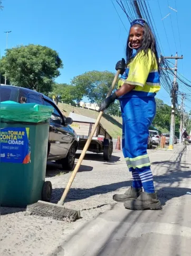
<path fill-rule="evenodd" d="M 120 74 L 120 70 L 117 71 L 117 74 L 115 75 L 115 77 L 113 79 L 113 82 L 112 82 L 112 85 L 108 92 L 107 97 L 109 97 L 111 95 L 112 90 L 114 89 L 114 86 L 117 82 L 119 74 Z M 77 162 L 77 165 L 75 166 L 75 168 L 72 172 L 69 182 L 68 182 L 68 184 L 64 190 L 64 193 L 63 193 L 60 201 L 58 202 L 58 204 L 43 202 L 43 201 L 39 200 L 37 203 L 27 206 L 27 208 L 26 208 L 27 213 L 44 216 L 44 217 L 51 217 L 51 218 L 54 218 L 55 220 L 68 221 L 68 222 L 75 221 L 75 220 L 78 220 L 78 218 L 80 218 L 80 211 L 75 211 L 74 209 L 65 208 L 63 205 L 64 205 L 65 198 L 69 193 L 72 182 L 80 168 L 82 160 L 84 159 L 85 153 L 89 148 L 90 142 L 92 140 L 94 132 L 97 129 L 97 126 L 100 122 L 102 114 L 103 114 L 103 111 L 101 111 L 99 113 L 96 123 L 93 126 L 93 130 L 91 131 L 91 134 L 90 134 L 87 142 L 85 143 L 85 146 L 82 150 L 81 156 Z"/>

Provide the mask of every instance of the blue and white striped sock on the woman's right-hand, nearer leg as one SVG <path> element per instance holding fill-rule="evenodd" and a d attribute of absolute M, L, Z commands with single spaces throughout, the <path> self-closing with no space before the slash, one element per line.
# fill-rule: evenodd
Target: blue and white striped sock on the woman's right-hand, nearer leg
<path fill-rule="evenodd" d="M 154 183 L 153 183 L 153 176 L 151 170 L 145 170 L 139 172 L 139 177 L 142 182 L 142 187 L 146 193 L 155 193 Z"/>

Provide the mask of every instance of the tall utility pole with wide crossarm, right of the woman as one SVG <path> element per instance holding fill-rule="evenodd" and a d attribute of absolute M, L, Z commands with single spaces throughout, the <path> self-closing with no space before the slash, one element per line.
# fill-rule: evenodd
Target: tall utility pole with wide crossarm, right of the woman
<path fill-rule="evenodd" d="M 177 78 L 177 66 L 178 66 L 178 59 L 183 59 L 183 56 L 178 56 L 177 52 L 175 56 L 170 57 L 163 57 L 164 59 L 175 59 L 175 68 L 174 68 L 174 81 L 173 87 L 171 90 L 171 120 L 170 120 L 170 138 L 169 138 L 169 150 L 174 149 L 174 136 L 175 136 L 175 106 L 177 103 L 177 91 L 178 91 L 178 84 L 176 81 Z"/>

